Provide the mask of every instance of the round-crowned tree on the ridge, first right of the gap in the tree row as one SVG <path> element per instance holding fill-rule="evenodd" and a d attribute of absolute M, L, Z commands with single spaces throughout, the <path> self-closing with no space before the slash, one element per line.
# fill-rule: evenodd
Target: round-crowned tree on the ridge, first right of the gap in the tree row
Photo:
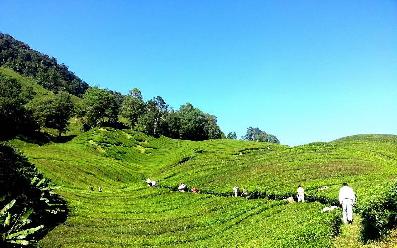
<path fill-rule="evenodd" d="M 146 112 L 146 104 L 139 98 L 128 96 L 121 105 L 121 115 L 130 123 L 131 129 L 138 118 Z"/>

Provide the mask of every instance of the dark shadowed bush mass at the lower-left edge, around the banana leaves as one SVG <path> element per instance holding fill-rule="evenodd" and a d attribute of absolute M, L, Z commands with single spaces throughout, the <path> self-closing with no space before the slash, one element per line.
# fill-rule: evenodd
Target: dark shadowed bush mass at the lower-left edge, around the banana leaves
<path fill-rule="evenodd" d="M 4 219 L 6 225 L 12 227 L 12 233 L 28 223 L 32 227 L 39 223 L 51 226 L 65 217 L 66 206 L 53 192 L 55 188 L 36 170 L 36 167 L 28 162 L 26 157 L 6 143 L 0 143 L 0 175 L 0 195 L 5 195 L 2 200 L 15 200 L 12 200 L 13 203 L 5 207 L 5 210 L 1 210 L 3 214 L 11 205 L 13 206 L 13 214 L 9 212 L 8 217 Z M 22 236 L 25 233 L 13 236 L 11 231 L 1 233 L 7 233 L 4 236 L 7 240 L 24 239 Z"/>

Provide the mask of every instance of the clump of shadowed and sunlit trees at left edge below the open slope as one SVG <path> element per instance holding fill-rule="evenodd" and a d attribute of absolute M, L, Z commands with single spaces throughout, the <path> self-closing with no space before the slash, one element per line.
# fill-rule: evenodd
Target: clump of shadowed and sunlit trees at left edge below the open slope
<path fill-rule="evenodd" d="M 33 100 L 33 88 L 22 89 L 14 78 L 0 76 L 0 139 L 17 134 L 36 133 L 41 127 L 57 129 L 65 133 L 69 119 L 74 113 L 74 104 L 67 93 L 54 98 Z"/>

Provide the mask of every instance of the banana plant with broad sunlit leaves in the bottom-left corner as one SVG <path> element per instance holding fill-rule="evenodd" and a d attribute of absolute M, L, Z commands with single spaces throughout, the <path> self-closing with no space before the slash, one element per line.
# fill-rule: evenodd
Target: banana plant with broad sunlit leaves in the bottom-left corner
<path fill-rule="evenodd" d="M 28 218 L 30 214 L 33 213 L 33 209 L 30 208 L 26 212 L 22 211 L 19 215 L 11 215 L 9 210 L 15 202 L 15 199 L 10 201 L 0 211 L 0 230 L 2 231 L 0 239 L 3 242 L 26 246 L 30 244 L 30 241 L 26 240 L 26 237 L 42 229 L 44 226 L 40 225 L 38 227 L 21 230 L 23 226 L 30 223 Z"/>

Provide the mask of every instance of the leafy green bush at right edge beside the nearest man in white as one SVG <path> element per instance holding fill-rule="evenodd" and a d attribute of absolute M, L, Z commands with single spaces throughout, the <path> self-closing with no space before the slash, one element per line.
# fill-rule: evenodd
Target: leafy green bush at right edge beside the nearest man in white
<path fill-rule="evenodd" d="M 397 226 L 397 180 L 372 189 L 359 204 L 367 239 L 378 238 Z"/>

